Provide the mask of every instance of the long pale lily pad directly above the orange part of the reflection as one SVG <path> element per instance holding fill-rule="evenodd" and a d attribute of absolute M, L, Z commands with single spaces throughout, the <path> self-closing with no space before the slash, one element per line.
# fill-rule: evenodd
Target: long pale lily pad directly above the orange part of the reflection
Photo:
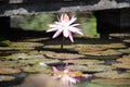
<path fill-rule="evenodd" d="M 77 70 L 82 72 L 103 72 L 103 71 L 112 71 L 114 70 L 113 66 L 108 65 L 67 65 L 66 69 L 69 70 Z"/>

